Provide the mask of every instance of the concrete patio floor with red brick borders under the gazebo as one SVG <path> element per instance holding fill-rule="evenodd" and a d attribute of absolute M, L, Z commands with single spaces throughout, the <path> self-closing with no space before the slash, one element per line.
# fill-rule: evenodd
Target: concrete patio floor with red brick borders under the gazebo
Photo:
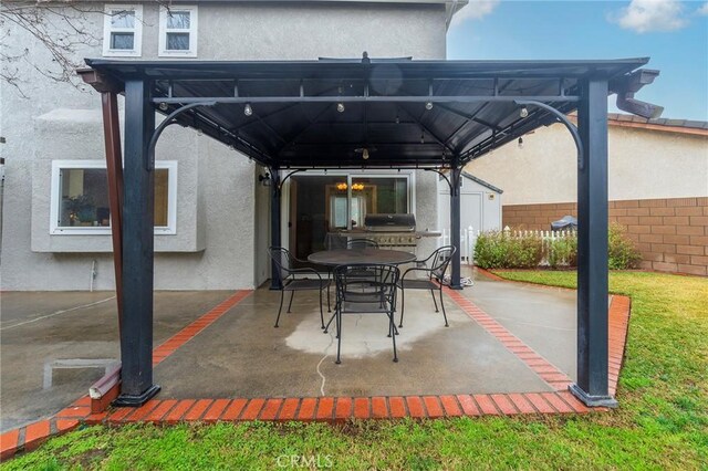
<path fill-rule="evenodd" d="M 343 364 L 335 365 L 334 338 L 319 328 L 315 299 L 299 295 L 275 329 L 279 295 L 264 289 L 156 293 L 153 365 L 163 391 L 139 408 L 108 410 L 81 396 L 100 376 L 96 368 L 63 378 L 55 373 L 41 390 L 38 383 L 56 359 L 117 355 L 115 300 L 105 293 L 3 293 L 0 459 L 81 423 L 590 412 L 568 391 L 575 293 L 486 276 L 464 291 L 445 289 L 447 328 L 426 293 L 409 292 L 397 364 L 383 316 L 346 320 Z M 611 395 L 629 306 L 628 297 L 612 296 Z M 72 396 L 81 397 L 62 408 Z"/>

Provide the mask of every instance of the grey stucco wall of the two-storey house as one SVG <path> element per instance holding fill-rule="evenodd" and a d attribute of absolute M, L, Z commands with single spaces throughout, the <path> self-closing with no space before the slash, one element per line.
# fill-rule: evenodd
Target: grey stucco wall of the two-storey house
<path fill-rule="evenodd" d="M 144 3 L 143 60 L 160 59 L 156 3 Z M 102 38 L 103 4 L 86 8 L 96 12 L 75 14 L 86 31 Z M 110 236 L 49 234 L 51 160 L 105 159 L 100 96 L 40 74 L 32 64 L 51 62 L 45 49 L 10 23 L 2 28 L 7 53 L 25 48 L 29 53 L 28 61 L 11 64 L 22 77 L 19 90 L 0 81 L 0 135 L 7 138 L 0 287 L 87 290 L 95 260 L 93 287 L 112 290 Z M 372 57 L 445 59 L 445 34 L 444 4 L 199 2 L 196 60 L 358 57 L 363 51 Z M 79 46 L 76 59 L 101 54 L 98 41 Z M 222 290 L 260 283 L 267 259 L 254 253 L 262 251 L 256 239 L 269 237 L 267 218 L 257 217 L 269 203 L 257 188 L 262 170 L 181 128 L 165 133 L 156 157 L 179 163 L 179 205 L 177 234 L 156 236 L 155 287 Z M 435 176 L 419 175 L 417 181 L 419 210 L 435 213 Z M 426 217 L 420 219 L 424 223 Z M 76 248 L 85 253 L 65 252 Z"/>

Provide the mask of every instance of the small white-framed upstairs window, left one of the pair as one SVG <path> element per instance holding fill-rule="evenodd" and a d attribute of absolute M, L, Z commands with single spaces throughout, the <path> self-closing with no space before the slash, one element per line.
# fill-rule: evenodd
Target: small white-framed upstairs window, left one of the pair
<path fill-rule="evenodd" d="M 139 57 L 142 42 L 143 6 L 107 4 L 103 23 L 103 55 Z"/>

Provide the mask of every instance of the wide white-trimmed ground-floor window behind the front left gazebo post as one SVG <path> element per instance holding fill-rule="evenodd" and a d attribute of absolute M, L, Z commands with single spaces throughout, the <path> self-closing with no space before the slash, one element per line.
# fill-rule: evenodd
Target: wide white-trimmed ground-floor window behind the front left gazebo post
<path fill-rule="evenodd" d="M 177 161 L 155 163 L 155 233 L 175 234 Z M 50 208 L 51 234 L 110 234 L 106 165 L 102 160 L 54 160 Z"/>

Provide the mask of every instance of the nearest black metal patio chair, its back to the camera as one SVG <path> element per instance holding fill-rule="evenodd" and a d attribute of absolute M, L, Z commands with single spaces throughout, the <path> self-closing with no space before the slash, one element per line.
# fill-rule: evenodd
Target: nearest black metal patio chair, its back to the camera
<path fill-rule="evenodd" d="M 362 271 L 372 273 L 373 276 L 362 279 L 360 276 Z M 347 264 L 334 269 L 336 364 L 342 363 L 342 316 L 344 314 L 385 314 L 388 317 L 388 337 L 392 338 L 394 346 L 394 362 L 398 362 L 394 314 L 399 276 L 398 268 L 387 264 Z"/>

